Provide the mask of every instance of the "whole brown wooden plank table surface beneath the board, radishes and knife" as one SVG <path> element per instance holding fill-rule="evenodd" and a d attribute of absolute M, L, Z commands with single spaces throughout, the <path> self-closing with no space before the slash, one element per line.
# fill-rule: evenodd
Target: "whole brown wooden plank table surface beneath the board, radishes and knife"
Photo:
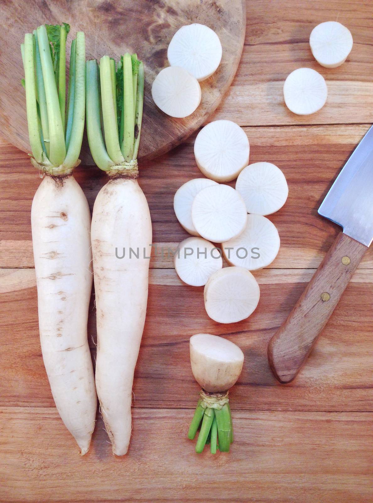
<path fill-rule="evenodd" d="M 0 142 L 0 501 L 371 503 L 373 249 L 293 383 L 275 381 L 266 345 L 339 230 L 317 208 L 373 122 L 372 14 L 368 0 L 247 2 L 241 65 L 214 118 L 244 127 L 250 162 L 283 170 L 289 199 L 270 216 L 281 250 L 269 268 L 254 272 L 261 289 L 256 311 L 229 325 L 208 318 L 203 289 L 182 284 L 170 257 L 153 257 L 124 458 L 112 456 L 99 416 L 91 449 L 79 457 L 55 409 L 40 350 L 31 246 L 30 208 L 40 179 L 26 154 Z M 326 69 L 313 60 L 309 34 L 337 18 L 354 46 L 342 66 Z M 283 104 L 283 82 L 300 66 L 318 70 L 329 89 L 324 108 L 309 117 Z M 187 237 L 172 200 L 182 183 L 201 176 L 193 142 L 141 168 L 156 243 L 172 247 Z M 79 166 L 76 178 L 92 206 L 105 175 Z M 197 332 L 224 334 L 245 354 L 231 392 L 229 454 L 196 455 L 186 438 L 199 391 L 188 350 Z M 88 333 L 94 357 L 93 302 Z"/>

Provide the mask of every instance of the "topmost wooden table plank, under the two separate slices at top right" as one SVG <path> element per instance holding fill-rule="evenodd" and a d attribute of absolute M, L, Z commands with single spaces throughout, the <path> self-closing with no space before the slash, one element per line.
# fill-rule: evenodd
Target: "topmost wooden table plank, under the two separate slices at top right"
<path fill-rule="evenodd" d="M 214 119 L 234 120 L 241 126 L 373 122 L 370 2 L 256 0 L 246 14 L 241 64 Z M 317 24 L 336 20 L 351 31 L 353 48 L 341 66 L 324 68 L 311 53 L 310 33 Z M 308 116 L 290 112 L 283 95 L 286 77 L 302 66 L 321 73 L 328 86 L 326 104 Z"/>

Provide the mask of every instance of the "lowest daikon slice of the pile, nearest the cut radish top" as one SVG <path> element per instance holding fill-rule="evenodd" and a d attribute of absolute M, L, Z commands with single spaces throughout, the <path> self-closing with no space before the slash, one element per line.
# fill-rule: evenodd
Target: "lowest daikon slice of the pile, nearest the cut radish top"
<path fill-rule="evenodd" d="M 225 267 L 205 285 L 207 314 L 219 323 L 241 321 L 255 310 L 260 290 L 254 276 L 243 267 Z"/>

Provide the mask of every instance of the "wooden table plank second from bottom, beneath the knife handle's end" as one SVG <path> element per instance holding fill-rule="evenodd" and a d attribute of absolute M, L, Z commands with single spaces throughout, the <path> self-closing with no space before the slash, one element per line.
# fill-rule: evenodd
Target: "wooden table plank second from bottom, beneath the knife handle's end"
<path fill-rule="evenodd" d="M 198 385 L 190 367 L 189 338 L 207 332 L 228 337 L 244 352 L 244 368 L 231 392 L 232 403 L 240 409 L 373 410 L 372 270 L 355 272 L 307 365 L 293 383 L 279 385 L 268 367 L 267 343 L 313 272 L 255 272 L 261 290 L 256 311 L 245 321 L 222 325 L 207 316 L 203 288 L 182 284 L 174 270 L 152 270 L 134 406 L 195 405 Z M 53 406 L 40 350 L 35 272 L 2 270 L 0 284 L 0 405 Z M 95 358 L 93 297 L 88 339 Z"/>

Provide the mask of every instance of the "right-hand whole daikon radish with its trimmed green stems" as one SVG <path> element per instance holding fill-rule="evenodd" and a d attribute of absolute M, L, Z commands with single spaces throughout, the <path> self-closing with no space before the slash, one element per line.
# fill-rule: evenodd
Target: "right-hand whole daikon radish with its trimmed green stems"
<path fill-rule="evenodd" d="M 121 456 L 131 437 L 132 384 L 145 322 L 152 242 L 148 204 L 137 183 L 144 66 L 136 54 L 125 54 L 117 64 L 104 56 L 100 76 L 96 60 L 87 61 L 86 75 L 89 148 L 110 177 L 96 198 L 91 227 L 96 386 L 113 454 Z"/>

